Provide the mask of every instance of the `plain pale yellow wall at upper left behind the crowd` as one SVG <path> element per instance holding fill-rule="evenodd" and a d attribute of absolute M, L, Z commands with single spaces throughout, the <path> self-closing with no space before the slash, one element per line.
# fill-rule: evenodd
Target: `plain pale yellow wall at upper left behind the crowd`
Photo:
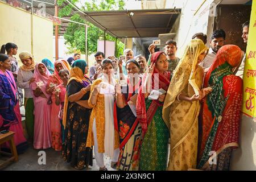
<path fill-rule="evenodd" d="M 0 19 L 0 46 L 15 43 L 18 46 L 17 60 L 21 51 L 31 52 L 31 14 L 0 1 Z M 52 60 L 52 35 L 51 20 L 33 15 L 33 55 L 36 62 L 45 57 Z"/>

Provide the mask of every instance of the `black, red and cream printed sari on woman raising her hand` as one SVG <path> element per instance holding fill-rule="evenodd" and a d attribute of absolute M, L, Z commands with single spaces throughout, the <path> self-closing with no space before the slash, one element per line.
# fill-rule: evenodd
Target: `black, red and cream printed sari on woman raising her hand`
<path fill-rule="evenodd" d="M 139 144 L 142 139 L 142 129 L 127 102 L 130 101 L 130 97 L 137 94 L 141 80 L 138 80 L 135 86 L 129 84 L 129 79 L 127 79 L 127 82 L 127 86 L 122 87 L 122 90 L 126 91 L 123 93 L 123 100 L 126 102 L 126 105 L 122 109 L 117 107 L 114 113 L 117 115 L 115 125 L 118 125 L 120 140 L 117 170 L 137 171 L 139 169 Z M 131 90 L 133 93 L 129 93 Z"/>

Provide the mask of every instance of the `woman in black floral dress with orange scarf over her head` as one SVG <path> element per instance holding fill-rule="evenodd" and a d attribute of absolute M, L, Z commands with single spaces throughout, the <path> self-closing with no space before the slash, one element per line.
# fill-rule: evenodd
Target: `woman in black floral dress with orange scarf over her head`
<path fill-rule="evenodd" d="M 65 73 L 64 71 L 61 71 Z M 88 105 L 90 80 L 85 60 L 72 64 L 63 109 L 63 158 L 76 169 L 92 166 L 91 146 L 86 147 L 91 109 Z M 68 77 L 68 75 L 66 75 Z"/>

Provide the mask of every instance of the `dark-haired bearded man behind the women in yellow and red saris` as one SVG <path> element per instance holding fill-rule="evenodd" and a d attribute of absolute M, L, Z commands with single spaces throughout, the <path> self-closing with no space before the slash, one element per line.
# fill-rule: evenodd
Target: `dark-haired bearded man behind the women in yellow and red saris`
<path fill-rule="evenodd" d="M 204 68 L 205 73 L 208 72 L 210 66 L 213 64 L 218 49 L 224 46 L 225 38 L 226 33 L 222 29 L 214 31 L 210 36 L 209 52 L 207 56 L 205 56 L 205 59 L 199 64 L 201 67 Z"/>

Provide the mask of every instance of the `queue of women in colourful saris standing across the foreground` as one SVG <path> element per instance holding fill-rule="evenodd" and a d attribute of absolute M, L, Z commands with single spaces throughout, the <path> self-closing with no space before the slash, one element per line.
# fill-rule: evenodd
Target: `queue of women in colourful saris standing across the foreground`
<path fill-rule="evenodd" d="M 102 77 L 91 82 L 85 60 L 76 60 L 71 68 L 65 60 L 35 64 L 30 53 L 20 53 L 18 86 L 25 91 L 26 127 L 34 148 L 62 150 L 76 169 L 92 166 L 93 149 L 103 171 L 104 154 L 123 171 L 228 169 L 238 147 L 242 80 L 233 69 L 239 67 L 242 51 L 234 45 L 221 47 L 204 75 L 199 63 L 207 52 L 200 39 L 191 40 L 171 79 L 164 52 L 150 56 L 143 76 L 138 61 L 127 59 L 126 85 L 113 76 L 110 59 L 101 63 Z M 122 61 L 118 67 L 123 73 Z M 3 122 L 22 135 L 9 56 L 0 55 L 0 68 L 1 105 L 11 106 L 1 106 L 0 126 Z M 102 92 L 106 86 L 110 93 Z M 150 98 L 159 89 L 167 93 Z M 26 139 L 18 137 L 15 144 L 20 143 Z M 214 164 L 209 163 L 212 151 Z"/>

